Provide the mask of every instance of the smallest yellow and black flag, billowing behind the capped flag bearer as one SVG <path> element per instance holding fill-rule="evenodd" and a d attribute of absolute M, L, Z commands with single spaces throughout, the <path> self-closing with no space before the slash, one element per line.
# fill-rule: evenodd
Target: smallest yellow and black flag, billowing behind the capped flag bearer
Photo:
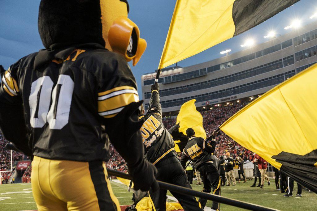
<path fill-rule="evenodd" d="M 188 142 L 186 136 L 186 129 L 191 127 L 194 129 L 196 137 L 202 137 L 206 139 L 206 132 L 203 127 L 203 116 L 197 111 L 195 106 L 195 99 L 185 102 L 176 118 L 176 124 L 179 124 L 178 136 L 174 135 L 175 133 L 171 132 L 173 140 L 175 142 L 175 151 L 183 152 L 184 147 Z M 177 145 L 177 146 L 176 146 Z"/>

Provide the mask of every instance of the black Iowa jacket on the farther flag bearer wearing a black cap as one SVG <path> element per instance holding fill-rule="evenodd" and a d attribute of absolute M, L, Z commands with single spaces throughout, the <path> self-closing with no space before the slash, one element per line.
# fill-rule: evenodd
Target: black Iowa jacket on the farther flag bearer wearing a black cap
<path fill-rule="evenodd" d="M 191 158 L 191 160 L 194 162 L 195 169 L 198 169 L 201 164 L 206 162 L 214 163 L 215 160 L 211 153 L 215 152 L 215 148 L 215 139 L 205 140 L 201 137 L 191 137 L 188 139 L 188 143 L 183 150 L 184 153 L 180 162 L 184 167 L 187 160 Z"/>

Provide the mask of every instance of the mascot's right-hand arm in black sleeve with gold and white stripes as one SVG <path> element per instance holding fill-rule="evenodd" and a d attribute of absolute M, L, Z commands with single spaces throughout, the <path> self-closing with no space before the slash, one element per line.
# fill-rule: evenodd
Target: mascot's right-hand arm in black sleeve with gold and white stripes
<path fill-rule="evenodd" d="M 122 56 L 112 58 L 99 71 L 98 113 L 115 149 L 129 168 L 143 162 L 143 143 L 139 119 L 139 102 L 132 71 Z M 112 72 L 112 75 L 107 73 Z"/>

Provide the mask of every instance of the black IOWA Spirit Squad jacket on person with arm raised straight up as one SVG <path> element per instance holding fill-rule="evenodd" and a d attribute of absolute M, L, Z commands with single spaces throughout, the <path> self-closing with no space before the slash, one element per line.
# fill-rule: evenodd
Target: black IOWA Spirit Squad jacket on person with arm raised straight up
<path fill-rule="evenodd" d="M 159 93 L 153 90 L 151 94 L 150 104 L 141 127 L 144 151 L 146 160 L 152 164 L 156 164 L 162 158 L 174 155 L 174 141 L 171 134 L 163 125 L 162 107 L 159 102 Z"/>

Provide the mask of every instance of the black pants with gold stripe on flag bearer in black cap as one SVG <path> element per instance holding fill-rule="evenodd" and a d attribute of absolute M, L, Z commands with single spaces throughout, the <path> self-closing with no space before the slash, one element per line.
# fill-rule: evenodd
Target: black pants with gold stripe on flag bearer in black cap
<path fill-rule="evenodd" d="M 200 177 L 204 183 L 203 192 L 210 193 L 212 188 L 212 194 L 220 195 L 220 176 L 217 168 L 212 163 L 204 163 L 199 166 L 198 171 L 200 173 Z M 199 199 L 202 208 L 206 206 L 207 199 Z M 220 208 L 219 202 L 212 202 L 211 209 L 219 210 Z"/>

